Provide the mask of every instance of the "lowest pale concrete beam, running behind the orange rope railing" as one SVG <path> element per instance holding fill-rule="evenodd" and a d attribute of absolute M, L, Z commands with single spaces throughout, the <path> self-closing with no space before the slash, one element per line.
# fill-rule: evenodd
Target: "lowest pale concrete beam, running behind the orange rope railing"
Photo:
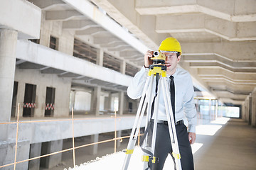
<path fill-rule="evenodd" d="M 116 130 L 127 130 L 131 129 L 134 124 L 135 116 L 122 116 L 118 117 L 117 129 Z M 21 121 L 22 118 L 20 119 Z M 143 118 L 141 127 L 146 125 L 146 117 Z M 63 128 L 65 127 L 65 128 Z M 41 122 L 41 123 L 20 123 L 18 136 L 23 141 L 28 143 L 39 143 L 48 142 L 54 140 L 63 140 L 72 137 L 72 121 L 67 120 L 52 122 Z M 42 130 L 43 129 L 43 130 Z M 86 129 L 86 130 L 81 130 Z M 16 125 L 11 124 L 9 127 L 10 139 L 15 139 Z M 92 118 L 92 119 L 77 119 L 74 120 L 74 136 L 82 137 L 87 135 L 100 134 L 104 132 L 114 131 L 114 118 Z M 33 134 L 33 135 L 31 135 Z M 29 147 L 29 145 L 28 145 Z M 29 151 L 29 149 L 27 150 Z M 29 153 L 28 153 L 29 154 Z"/>

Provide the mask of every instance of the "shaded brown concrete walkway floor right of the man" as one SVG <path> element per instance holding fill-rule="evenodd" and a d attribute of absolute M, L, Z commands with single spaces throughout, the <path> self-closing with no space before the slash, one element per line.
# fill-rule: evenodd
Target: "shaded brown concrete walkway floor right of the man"
<path fill-rule="evenodd" d="M 240 119 L 209 125 L 222 128 L 213 136 L 197 135 L 203 146 L 194 154 L 196 170 L 256 169 L 256 128 Z"/>

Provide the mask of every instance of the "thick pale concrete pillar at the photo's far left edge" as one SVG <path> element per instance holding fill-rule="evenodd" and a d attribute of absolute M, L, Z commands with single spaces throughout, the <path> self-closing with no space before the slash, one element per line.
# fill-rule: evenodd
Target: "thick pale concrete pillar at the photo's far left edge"
<path fill-rule="evenodd" d="M 11 120 L 17 35 L 18 33 L 14 30 L 0 29 L 0 122 Z M 0 140 L 6 140 L 8 135 L 7 126 L 2 128 Z"/>

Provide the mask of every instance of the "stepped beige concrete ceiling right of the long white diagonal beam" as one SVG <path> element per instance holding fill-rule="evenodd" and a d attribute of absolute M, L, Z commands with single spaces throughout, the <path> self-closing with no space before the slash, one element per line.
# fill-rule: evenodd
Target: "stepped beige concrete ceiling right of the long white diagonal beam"
<path fill-rule="evenodd" d="M 241 104 L 256 86 L 256 1 L 92 0 L 156 50 L 181 42 L 180 66 L 225 103 Z"/>

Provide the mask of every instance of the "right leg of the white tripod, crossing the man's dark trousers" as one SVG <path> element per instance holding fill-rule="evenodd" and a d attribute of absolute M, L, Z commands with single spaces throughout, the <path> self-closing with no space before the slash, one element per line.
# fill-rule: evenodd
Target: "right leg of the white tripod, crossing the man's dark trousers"
<path fill-rule="evenodd" d="M 166 78 L 166 77 L 164 77 Z M 178 149 L 178 140 L 177 140 L 177 134 L 176 134 L 176 127 L 174 123 L 174 114 L 171 109 L 171 96 L 167 96 L 169 94 L 168 86 L 166 84 L 166 79 L 162 79 L 162 89 L 164 89 L 164 105 L 166 106 L 166 115 L 167 115 L 167 121 L 169 126 L 169 133 L 171 138 L 171 147 L 173 150 L 173 157 L 175 158 L 175 164 L 176 169 L 181 170 L 181 154 Z"/>

